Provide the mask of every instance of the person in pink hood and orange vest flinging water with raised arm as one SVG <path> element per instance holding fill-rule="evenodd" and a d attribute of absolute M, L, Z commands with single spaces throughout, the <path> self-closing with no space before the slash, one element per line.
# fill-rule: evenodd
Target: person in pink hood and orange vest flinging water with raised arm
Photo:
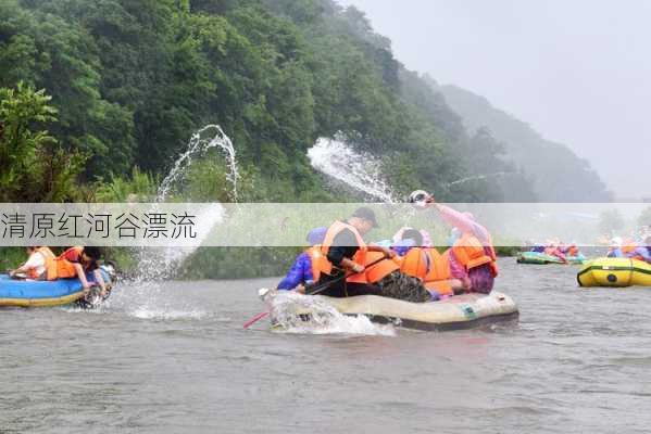
<path fill-rule="evenodd" d="M 459 213 L 441 205 L 425 191 L 413 192 L 410 202 L 421 207 L 436 207 L 445 221 L 459 229 L 461 237 L 439 260 L 449 263 L 450 276 L 463 282 L 464 291 L 490 294 L 498 276 L 498 266 L 488 230 L 476 222 L 472 214 Z"/>

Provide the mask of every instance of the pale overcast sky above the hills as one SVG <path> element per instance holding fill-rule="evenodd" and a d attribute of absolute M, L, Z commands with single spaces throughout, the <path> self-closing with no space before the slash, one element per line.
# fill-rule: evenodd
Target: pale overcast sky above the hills
<path fill-rule="evenodd" d="M 339 2 L 366 12 L 408 68 L 569 145 L 619 196 L 651 194 L 651 1 Z"/>

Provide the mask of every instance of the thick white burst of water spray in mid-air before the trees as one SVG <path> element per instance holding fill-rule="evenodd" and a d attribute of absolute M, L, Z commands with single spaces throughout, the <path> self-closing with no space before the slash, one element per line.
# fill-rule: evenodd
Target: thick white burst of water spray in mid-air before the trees
<path fill-rule="evenodd" d="M 312 167 L 356 191 L 395 203 L 391 189 L 380 174 L 380 163 L 373 156 L 354 151 L 338 133 L 334 139 L 321 138 L 308 150 Z"/>

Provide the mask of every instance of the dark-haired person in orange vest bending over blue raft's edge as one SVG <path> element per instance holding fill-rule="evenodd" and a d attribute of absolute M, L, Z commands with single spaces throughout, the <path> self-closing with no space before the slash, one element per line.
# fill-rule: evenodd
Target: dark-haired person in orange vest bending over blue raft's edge
<path fill-rule="evenodd" d="M 99 258 L 100 250 L 98 247 L 70 247 L 54 259 L 53 272 L 55 272 L 57 279 L 78 278 L 86 293 L 90 290 L 86 273 L 92 272 L 93 283 L 97 283 L 101 289 L 100 296 L 105 297 L 107 284 L 99 270 Z M 51 279 L 48 278 L 48 280 Z"/>

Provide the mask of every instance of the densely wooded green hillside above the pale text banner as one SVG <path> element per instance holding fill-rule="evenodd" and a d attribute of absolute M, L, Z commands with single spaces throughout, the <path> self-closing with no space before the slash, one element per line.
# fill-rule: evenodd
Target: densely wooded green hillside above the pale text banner
<path fill-rule="evenodd" d="M 47 130 L 47 140 L 8 156 L 13 171 L 4 166 L 0 179 L 34 178 L 23 171 L 47 159 L 43 174 L 58 180 L 37 177 L 32 183 L 45 187 L 14 189 L 4 200 L 93 200 L 98 189 L 63 182 L 77 176 L 83 186 L 129 182 L 140 173 L 160 178 L 205 124 L 220 124 L 235 142 L 245 200 L 340 199 L 305 156 L 316 138 L 338 131 L 380 156 L 399 192 L 534 199 L 488 131 L 467 135 L 360 11 L 330 0 L 7 0 L 0 87 L 8 130 L 17 110 L 11 98 L 29 106 L 42 89 L 49 111 L 46 117 L 22 112 L 21 123 L 34 133 Z M 493 173 L 512 175 L 472 179 Z M 220 191 L 193 199 L 223 199 Z"/>

